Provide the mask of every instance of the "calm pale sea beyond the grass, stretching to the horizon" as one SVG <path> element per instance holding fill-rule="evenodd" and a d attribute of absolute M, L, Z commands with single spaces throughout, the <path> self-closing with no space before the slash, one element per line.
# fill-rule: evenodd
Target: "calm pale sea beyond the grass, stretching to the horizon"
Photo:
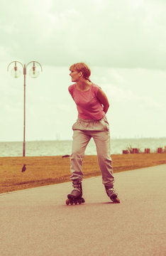
<path fill-rule="evenodd" d="M 159 147 L 166 150 L 166 137 L 111 139 L 111 154 L 122 154 L 123 150 L 131 148 L 142 152 L 148 148 L 150 153 L 155 153 Z M 26 142 L 26 156 L 65 156 L 70 155 L 71 150 L 71 140 Z M 85 155 L 96 155 L 93 139 L 90 140 Z M 0 157 L 2 156 L 23 156 L 23 142 L 0 142 Z"/>

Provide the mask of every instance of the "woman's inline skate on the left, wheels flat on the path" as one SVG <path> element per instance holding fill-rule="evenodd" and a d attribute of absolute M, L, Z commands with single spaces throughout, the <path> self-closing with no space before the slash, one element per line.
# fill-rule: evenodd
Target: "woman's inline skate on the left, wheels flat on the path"
<path fill-rule="evenodd" d="M 70 194 L 67 195 L 66 204 L 81 204 L 84 203 L 84 198 L 82 198 L 82 182 L 81 181 L 72 181 L 72 186 L 74 189 Z"/>

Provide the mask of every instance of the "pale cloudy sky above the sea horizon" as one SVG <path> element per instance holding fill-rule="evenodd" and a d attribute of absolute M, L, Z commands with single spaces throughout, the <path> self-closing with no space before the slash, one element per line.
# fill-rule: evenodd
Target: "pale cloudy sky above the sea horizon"
<path fill-rule="evenodd" d="M 0 142 L 23 140 L 15 60 L 43 68 L 31 78 L 27 67 L 26 141 L 72 139 L 69 68 L 77 62 L 109 99 L 112 138 L 166 137 L 165 11 L 164 0 L 1 0 Z"/>

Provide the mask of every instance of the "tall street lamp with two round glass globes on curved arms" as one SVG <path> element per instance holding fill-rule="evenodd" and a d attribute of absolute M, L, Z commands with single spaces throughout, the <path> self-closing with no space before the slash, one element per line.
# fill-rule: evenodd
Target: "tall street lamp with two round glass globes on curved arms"
<path fill-rule="evenodd" d="M 29 64 L 33 63 L 33 67 L 29 70 L 29 75 L 31 78 L 38 78 L 40 74 L 39 70 L 35 64 L 40 67 L 40 70 L 43 71 L 42 66 L 37 61 L 31 61 L 30 63 L 22 64 L 19 61 L 12 61 L 9 63 L 7 70 L 9 71 L 9 66 L 14 63 L 14 67 L 11 69 L 11 76 L 13 78 L 19 78 L 21 76 L 21 70 L 18 70 L 17 63 L 20 64 L 23 68 L 23 76 L 24 76 L 24 97 L 23 97 L 23 156 L 26 156 L 26 69 Z"/>

